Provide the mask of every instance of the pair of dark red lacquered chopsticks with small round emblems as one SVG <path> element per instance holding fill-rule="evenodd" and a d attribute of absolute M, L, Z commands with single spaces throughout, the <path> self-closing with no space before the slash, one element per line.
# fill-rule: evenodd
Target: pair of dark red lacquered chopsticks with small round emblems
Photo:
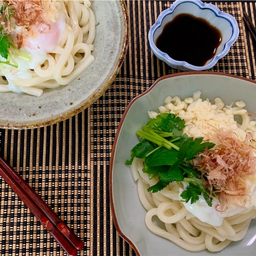
<path fill-rule="evenodd" d="M 75 256 L 77 250 L 82 249 L 84 242 L 63 223 L 44 200 L 1 157 L 0 175 L 68 255 Z"/>

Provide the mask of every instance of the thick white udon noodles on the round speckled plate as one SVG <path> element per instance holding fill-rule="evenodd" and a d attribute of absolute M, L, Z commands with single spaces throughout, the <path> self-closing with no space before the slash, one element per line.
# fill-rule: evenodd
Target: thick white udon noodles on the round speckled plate
<path fill-rule="evenodd" d="M 58 22 L 62 31 L 59 44 L 51 52 L 46 52 L 41 63 L 22 71 L 22 75 L 19 75 L 19 72 L 16 75 L 13 67 L 1 66 L 0 92 L 12 90 L 41 96 L 44 88 L 57 88 L 69 84 L 94 61 L 91 52 L 94 49 L 96 21 L 90 8 L 90 1 L 45 2 L 55 4 L 56 11 L 59 12 Z M 28 48 L 21 48 L 24 52 L 26 49 Z M 12 74 L 16 76 L 12 78 Z"/>

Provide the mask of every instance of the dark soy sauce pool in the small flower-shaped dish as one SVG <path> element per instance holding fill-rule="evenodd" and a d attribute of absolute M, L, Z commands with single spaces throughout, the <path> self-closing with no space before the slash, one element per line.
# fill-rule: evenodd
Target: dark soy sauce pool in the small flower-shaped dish
<path fill-rule="evenodd" d="M 191 14 L 178 14 L 156 39 L 156 47 L 174 60 L 204 66 L 221 42 L 220 31 L 207 20 Z"/>

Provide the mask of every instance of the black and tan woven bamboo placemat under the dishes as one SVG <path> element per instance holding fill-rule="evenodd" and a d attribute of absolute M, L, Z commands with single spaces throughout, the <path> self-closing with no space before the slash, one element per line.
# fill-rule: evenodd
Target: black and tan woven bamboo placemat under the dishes
<path fill-rule="evenodd" d="M 0 155 L 84 240 L 78 255 L 134 255 L 112 222 L 108 192 L 110 154 L 115 131 L 130 100 L 158 77 L 179 72 L 153 56 L 147 40 L 150 26 L 171 3 L 126 2 L 131 30 L 128 53 L 115 82 L 88 109 L 52 126 L 0 130 Z M 238 40 L 212 71 L 255 79 L 255 48 L 242 16 L 247 12 L 254 22 L 256 3 L 211 3 L 234 16 L 240 28 Z M 66 255 L 1 178 L 0 193 L 2 256 Z"/>

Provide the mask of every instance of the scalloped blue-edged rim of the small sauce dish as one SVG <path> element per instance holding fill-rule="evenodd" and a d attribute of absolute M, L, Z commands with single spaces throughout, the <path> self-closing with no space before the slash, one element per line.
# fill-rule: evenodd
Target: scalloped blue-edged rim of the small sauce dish
<path fill-rule="evenodd" d="M 204 9 L 211 10 L 212 12 L 214 12 L 216 17 L 226 19 L 230 23 L 230 26 L 232 27 L 232 35 L 231 35 L 230 39 L 224 44 L 224 49 L 222 50 L 222 52 L 220 52 L 218 55 L 215 55 L 212 58 L 211 62 L 204 66 L 194 66 L 192 64 L 189 64 L 186 61 L 174 60 L 168 54 L 159 50 L 156 47 L 156 44 L 154 43 L 154 40 L 153 40 L 154 33 L 161 26 L 163 19 L 167 15 L 172 14 L 177 6 L 179 6 L 180 4 L 186 4 L 187 2 L 197 5 L 200 9 L 202 9 L 202 11 Z M 222 12 L 214 4 L 204 4 L 200 0 L 176 0 L 170 6 L 170 8 L 163 10 L 159 14 L 156 22 L 152 25 L 152 27 L 150 28 L 150 30 L 148 32 L 148 40 L 149 40 L 149 44 L 150 44 L 150 48 L 151 48 L 152 52 L 154 52 L 154 54 L 161 60 L 166 61 L 166 63 L 168 65 L 173 64 L 176 66 L 184 67 L 186 69 L 200 71 L 200 70 L 206 70 L 206 69 L 212 68 L 218 62 L 218 60 L 220 60 L 222 57 L 224 57 L 226 54 L 228 54 L 231 45 L 234 44 L 234 42 L 238 38 L 238 35 L 239 35 L 239 27 L 238 27 L 238 23 L 237 23 L 236 19 L 232 15 L 230 15 L 226 12 Z"/>

